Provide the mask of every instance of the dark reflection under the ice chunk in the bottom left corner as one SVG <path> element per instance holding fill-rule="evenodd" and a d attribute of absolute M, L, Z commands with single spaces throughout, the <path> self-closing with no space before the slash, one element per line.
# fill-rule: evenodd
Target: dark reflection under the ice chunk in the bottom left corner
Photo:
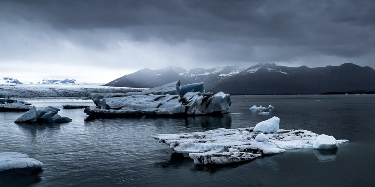
<path fill-rule="evenodd" d="M 42 168 L 10 169 L 0 172 L 1 187 L 31 186 L 42 181 Z"/>

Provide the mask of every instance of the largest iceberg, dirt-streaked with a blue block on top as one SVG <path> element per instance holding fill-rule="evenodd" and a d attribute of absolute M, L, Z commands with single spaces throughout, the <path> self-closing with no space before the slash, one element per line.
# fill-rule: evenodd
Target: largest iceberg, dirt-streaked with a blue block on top
<path fill-rule="evenodd" d="M 183 92 L 204 91 L 203 83 L 181 86 Z M 91 117 L 134 117 L 142 115 L 204 115 L 221 114 L 231 105 L 229 94 L 223 92 L 180 94 L 180 81 L 151 88 L 142 92 L 121 95 L 93 95 L 100 109 L 85 108 Z M 98 100 L 98 98 L 100 98 Z"/>

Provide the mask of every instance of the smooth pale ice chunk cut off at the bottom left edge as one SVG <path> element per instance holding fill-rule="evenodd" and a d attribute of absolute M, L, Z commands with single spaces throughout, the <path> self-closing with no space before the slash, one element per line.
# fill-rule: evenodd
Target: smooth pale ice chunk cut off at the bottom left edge
<path fill-rule="evenodd" d="M 27 154 L 16 152 L 0 153 L 0 171 L 8 169 L 20 169 L 31 167 L 42 167 L 43 163 L 30 158 Z"/>

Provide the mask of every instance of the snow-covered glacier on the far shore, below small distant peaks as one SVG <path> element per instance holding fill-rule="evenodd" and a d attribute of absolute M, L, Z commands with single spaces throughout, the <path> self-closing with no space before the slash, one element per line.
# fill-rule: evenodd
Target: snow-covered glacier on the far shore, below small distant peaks
<path fill-rule="evenodd" d="M 142 91 L 142 88 L 101 86 L 98 84 L 0 84 L 0 97 L 87 97 L 90 93 L 123 93 Z"/>

